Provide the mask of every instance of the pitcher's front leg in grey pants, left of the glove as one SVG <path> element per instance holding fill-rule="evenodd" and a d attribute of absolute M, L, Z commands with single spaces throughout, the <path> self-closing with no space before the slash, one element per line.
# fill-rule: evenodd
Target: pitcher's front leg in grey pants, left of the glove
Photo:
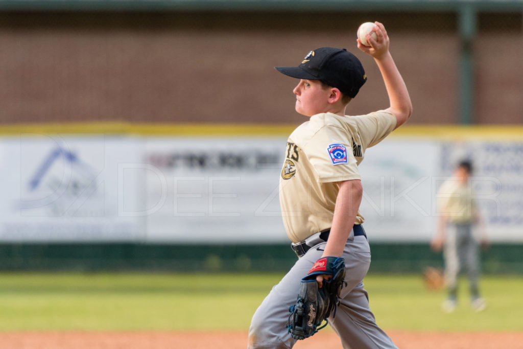
<path fill-rule="evenodd" d="M 321 258 L 324 245 L 325 243 L 312 247 L 299 258 L 287 275 L 269 292 L 251 320 L 248 348 L 280 349 L 291 348 L 294 345 L 296 340 L 286 328 L 290 315 L 289 307 L 296 303 L 301 279 Z"/>

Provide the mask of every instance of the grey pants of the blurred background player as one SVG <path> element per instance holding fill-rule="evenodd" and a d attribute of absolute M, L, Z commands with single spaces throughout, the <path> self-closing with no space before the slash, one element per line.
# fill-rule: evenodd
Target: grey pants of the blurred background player
<path fill-rule="evenodd" d="M 449 223 L 445 241 L 445 276 L 449 297 L 456 297 L 458 274 L 467 270 L 472 297 L 479 297 L 478 278 L 480 274 L 479 247 L 472 233 L 472 224 Z"/>

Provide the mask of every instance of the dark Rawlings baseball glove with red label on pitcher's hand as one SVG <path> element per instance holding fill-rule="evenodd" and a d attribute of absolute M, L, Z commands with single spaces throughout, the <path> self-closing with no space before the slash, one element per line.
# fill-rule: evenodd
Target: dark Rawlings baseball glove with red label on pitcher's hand
<path fill-rule="evenodd" d="M 317 275 L 329 275 L 323 280 L 322 288 L 316 282 Z M 294 339 L 305 339 L 323 329 L 328 322 L 323 321 L 333 312 L 336 315 L 339 292 L 344 285 L 345 261 L 342 257 L 323 257 L 301 279 L 300 291 L 295 305 L 289 308 L 287 323 L 289 333 Z"/>

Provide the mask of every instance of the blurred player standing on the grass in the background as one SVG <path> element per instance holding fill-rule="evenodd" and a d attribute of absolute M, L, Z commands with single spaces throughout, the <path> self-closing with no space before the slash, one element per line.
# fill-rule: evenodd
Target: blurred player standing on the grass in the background
<path fill-rule="evenodd" d="M 457 305 L 458 274 L 460 269 L 467 269 L 470 285 L 471 306 L 476 311 L 486 307 L 480 297 L 478 279 L 480 275 L 479 246 L 472 232 L 472 226 L 481 222 L 479 210 L 474 202 L 474 191 L 470 184 L 472 164 L 470 161 L 459 163 L 451 178 L 441 185 L 437 195 L 439 227 L 431 241 L 435 251 L 444 249 L 445 277 L 448 297 L 442 309 L 452 312 Z M 487 237 L 480 230 L 480 242 L 487 245 Z"/>

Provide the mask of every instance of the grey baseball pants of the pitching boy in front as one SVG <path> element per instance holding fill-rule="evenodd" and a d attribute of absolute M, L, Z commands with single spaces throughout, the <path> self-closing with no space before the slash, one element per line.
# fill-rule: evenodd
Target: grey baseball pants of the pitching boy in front
<path fill-rule="evenodd" d="M 289 306 L 296 302 L 300 281 L 314 262 L 321 258 L 325 244 L 312 247 L 272 288 L 254 313 L 248 348 L 280 349 L 294 345 L 296 340 L 292 339 L 286 328 Z M 376 324 L 369 308 L 367 291 L 363 289 L 362 280 L 370 265 L 367 239 L 364 236 L 354 237 L 354 232 L 351 232 L 343 258 L 347 286 L 342 288 L 336 317 L 329 318 L 329 324 L 340 337 L 344 348 L 396 348 L 389 336 Z"/>

